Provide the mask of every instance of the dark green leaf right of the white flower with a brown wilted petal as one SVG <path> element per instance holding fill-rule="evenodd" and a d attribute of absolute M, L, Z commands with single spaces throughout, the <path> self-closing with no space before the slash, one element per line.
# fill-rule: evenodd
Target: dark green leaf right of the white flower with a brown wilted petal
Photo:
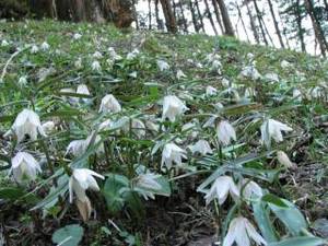
<path fill-rule="evenodd" d="M 125 204 L 122 190 L 129 186 L 129 179 L 117 174 L 108 174 L 106 176 L 103 194 L 109 212 L 116 214 Z"/>

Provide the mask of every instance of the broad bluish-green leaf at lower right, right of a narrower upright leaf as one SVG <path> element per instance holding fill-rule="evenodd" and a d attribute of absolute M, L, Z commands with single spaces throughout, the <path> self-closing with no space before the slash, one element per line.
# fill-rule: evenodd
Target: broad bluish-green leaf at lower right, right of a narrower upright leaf
<path fill-rule="evenodd" d="M 301 211 L 290 201 L 281 199 L 288 208 L 282 208 L 273 203 L 268 203 L 271 211 L 283 222 L 292 235 L 297 236 L 305 229 L 307 223 Z"/>

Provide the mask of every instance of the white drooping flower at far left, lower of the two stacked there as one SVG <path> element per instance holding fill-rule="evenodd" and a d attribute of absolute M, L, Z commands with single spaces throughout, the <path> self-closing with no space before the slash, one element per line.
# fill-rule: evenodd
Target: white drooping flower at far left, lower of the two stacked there
<path fill-rule="evenodd" d="M 24 179 L 34 180 L 37 173 L 42 173 L 38 162 L 26 152 L 19 152 L 11 160 L 11 172 L 16 181 L 21 183 Z"/>

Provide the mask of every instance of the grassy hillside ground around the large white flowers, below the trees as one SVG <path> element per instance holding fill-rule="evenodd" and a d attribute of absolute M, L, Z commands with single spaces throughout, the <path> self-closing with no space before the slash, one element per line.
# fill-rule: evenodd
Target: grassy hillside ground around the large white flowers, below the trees
<path fill-rule="evenodd" d="M 3 161 L 0 168 L 4 169 L 0 179 L 0 233 L 4 242 L 51 245 L 51 234 L 57 229 L 83 224 L 77 207 L 68 202 L 67 188 L 52 191 L 58 191 L 59 200 L 57 196 L 56 199 L 48 196 L 52 179 L 47 178 L 69 165 L 107 175 L 105 183 L 98 180 L 101 194 L 87 192 L 96 213 L 83 224 L 82 245 L 121 245 L 121 242 L 209 245 L 215 235 L 225 235 L 224 227 L 235 214 L 247 216 L 265 234 L 258 218 L 253 218 L 254 207 L 249 207 L 249 201 L 243 198 L 238 209 L 234 209 L 235 201 L 231 198 L 222 206 L 216 202 L 206 206 L 203 194 L 197 192 L 215 169 L 227 164 L 229 169 L 223 173 L 233 176 L 235 183 L 248 178 L 259 184 L 263 194 L 272 194 L 262 199 L 266 206 L 270 207 L 270 202 L 282 206 L 280 198 L 292 201 L 305 215 L 309 231 L 327 236 L 324 220 L 328 216 L 327 60 L 249 46 L 227 37 L 121 33 L 108 25 L 26 21 L 1 23 L 0 27 L 0 156 Z M 80 84 L 86 84 L 91 96 L 83 96 L 85 91 L 75 94 Z M 119 101 L 122 112 L 98 114 L 106 94 Z M 165 95 L 178 96 L 188 107 L 174 122 L 162 120 Z M 4 132 L 26 107 L 33 108 L 42 122 L 52 120 L 55 129 L 44 141 L 16 144 Z M 121 120 L 124 117 L 128 121 Z M 260 132 L 268 118 L 293 130 L 284 132 L 283 141 L 277 143 L 272 139 L 266 147 L 260 141 L 261 134 L 266 142 L 268 134 L 277 133 Z M 66 154 L 72 140 L 87 138 L 105 119 L 120 129 L 117 133 L 110 125 L 109 130 L 99 133 L 105 152 L 95 154 L 96 140 L 91 141 L 82 157 Z M 141 125 L 132 119 L 140 120 Z M 222 144 L 221 133 L 218 139 L 209 119 L 212 125 L 229 120 L 236 130 L 236 141 L 227 147 Z M 153 129 L 150 122 L 161 129 Z M 185 126 L 188 122 L 192 122 L 192 128 Z M 191 153 L 188 145 L 200 139 L 209 142 L 212 154 Z M 184 167 L 171 172 L 161 168 L 161 153 L 167 142 L 188 150 Z M 278 162 L 276 151 L 279 150 L 288 154 L 293 166 Z M 43 163 L 43 173 L 36 180 L 17 185 L 12 175 L 7 175 L 7 162 L 17 151 L 30 152 Z M 54 166 L 48 168 L 47 162 Z M 134 190 L 140 178 L 136 165 L 165 179 L 161 183 L 162 188 L 167 186 L 165 189 L 152 190 L 155 200 L 142 199 L 152 197 L 149 190 L 140 187 L 139 191 Z M 113 180 L 113 174 L 127 178 L 133 199 L 113 188 L 121 186 Z M 58 183 L 56 186 L 60 187 L 68 181 L 68 176 L 56 179 L 55 185 Z M 27 196 L 27 191 L 33 192 Z M 37 209 L 30 211 L 35 206 Z M 277 239 L 302 235 L 293 231 L 295 227 L 289 221 L 281 222 L 272 212 L 268 215 Z M 318 219 L 320 223 L 313 226 Z"/>

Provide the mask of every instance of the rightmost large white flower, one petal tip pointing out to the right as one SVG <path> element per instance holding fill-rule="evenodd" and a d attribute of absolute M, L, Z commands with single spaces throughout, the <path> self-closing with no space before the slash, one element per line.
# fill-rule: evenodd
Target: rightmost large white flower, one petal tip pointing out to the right
<path fill-rule="evenodd" d="M 273 138 L 276 142 L 282 142 L 283 137 L 281 131 L 292 130 L 293 129 L 285 124 L 282 124 L 274 119 L 267 119 L 261 125 L 261 141 L 269 148 L 271 143 L 271 138 Z"/>

